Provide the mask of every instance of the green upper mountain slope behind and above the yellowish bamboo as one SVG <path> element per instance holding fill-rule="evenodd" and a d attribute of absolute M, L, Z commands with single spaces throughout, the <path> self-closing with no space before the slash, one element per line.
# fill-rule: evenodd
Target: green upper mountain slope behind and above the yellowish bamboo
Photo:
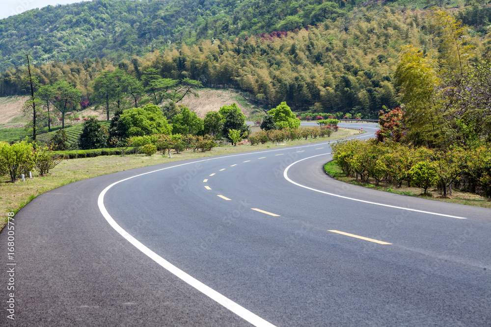
<path fill-rule="evenodd" d="M 50 5 L 0 21 L 0 69 L 24 64 L 26 50 L 35 63 L 96 56 L 121 60 L 169 42 L 245 38 L 314 25 L 344 13 L 337 3 L 323 0 L 95 0 Z"/>

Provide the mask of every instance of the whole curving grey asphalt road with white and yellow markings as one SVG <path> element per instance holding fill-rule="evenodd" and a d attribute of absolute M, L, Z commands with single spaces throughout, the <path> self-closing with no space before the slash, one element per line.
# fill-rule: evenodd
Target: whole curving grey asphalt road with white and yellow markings
<path fill-rule="evenodd" d="M 0 325 L 491 326 L 491 211 L 336 181 L 329 152 L 163 164 L 37 197 L 14 217 L 13 260 L 0 233 Z"/>

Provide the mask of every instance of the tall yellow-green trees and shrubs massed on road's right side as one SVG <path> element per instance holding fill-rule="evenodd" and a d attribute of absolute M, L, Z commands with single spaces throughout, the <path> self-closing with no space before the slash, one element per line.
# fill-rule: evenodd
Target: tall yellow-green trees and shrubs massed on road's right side
<path fill-rule="evenodd" d="M 405 105 L 380 112 L 376 139 L 333 145 L 333 162 L 343 178 L 366 185 L 406 192 L 406 184 L 446 200 L 464 191 L 489 207 L 490 53 L 468 42 L 455 18 L 438 11 L 432 21 L 441 33 L 438 53 L 409 46 L 397 66 Z"/>

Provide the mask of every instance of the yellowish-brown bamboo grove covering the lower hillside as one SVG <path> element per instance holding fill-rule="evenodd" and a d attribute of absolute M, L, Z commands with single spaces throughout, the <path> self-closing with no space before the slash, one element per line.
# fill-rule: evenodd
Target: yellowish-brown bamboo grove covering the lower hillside
<path fill-rule="evenodd" d="M 438 50 L 442 35 L 431 28 L 432 17 L 420 10 L 355 8 L 343 17 L 293 31 L 173 44 L 119 62 L 68 59 L 35 65 L 34 74 L 41 85 L 65 79 L 91 105 L 97 104 L 93 82 L 104 71 L 120 68 L 141 80 L 153 69 L 162 78 L 190 78 L 207 87 L 245 90 L 266 109 L 286 101 L 298 112 L 374 119 L 382 106 L 394 108 L 403 100 L 401 83 L 394 78 L 400 51 L 409 44 Z M 481 52 L 488 41 L 487 34 L 468 34 L 468 42 Z M 25 92 L 25 74 L 19 66 L 1 73 L 0 95 Z"/>

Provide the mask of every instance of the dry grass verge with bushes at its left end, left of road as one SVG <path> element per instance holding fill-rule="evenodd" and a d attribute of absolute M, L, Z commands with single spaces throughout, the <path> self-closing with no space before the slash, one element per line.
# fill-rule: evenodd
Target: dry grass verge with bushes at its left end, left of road
<path fill-rule="evenodd" d="M 252 127 L 252 129 L 256 130 L 256 132 L 259 132 L 259 127 Z M 238 144 L 235 147 L 230 144 L 217 145 L 213 148 L 213 151 L 202 152 L 193 151 L 192 149 L 182 150 L 179 151 L 179 153 L 177 151 L 170 151 L 170 155 L 172 156 L 171 158 L 169 157 L 169 151 L 164 150 L 164 154 L 159 151 L 158 153 L 148 155 L 148 152 L 143 153 L 144 150 L 142 147 L 141 153 L 138 154 L 135 154 L 134 148 L 132 148 L 126 149 L 128 153 L 126 153 L 124 156 L 119 154 L 97 157 L 83 157 L 67 160 L 63 159 L 63 151 L 51 151 L 49 149 L 43 148 L 39 151 L 44 152 L 46 155 L 50 155 L 53 161 L 58 162 L 54 168 L 49 169 L 49 171 L 45 172 L 44 176 L 41 176 L 39 170 L 35 168 L 37 163 L 36 156 L 32 151 L 32 146 L 26 142 L 23 142 L 20 147 L 10 150 L 20 152 L 21 156 L 23 153 L 25 160 L 21 160 L 21 163 L 23 161 L 28 162 L 28 165 L 30 165 L 30 167 L 27 168 L 32 169 L 32 178 L 28 178 L 28 171 L 26 171 L 27 168 L 25 164 L 22 164 L 23 166 L 17 168 L 17 170 L 14 172 L 13 175 L 16 176 L 15 182 L 12 182 L 10 174 L 6 174 L 5 171 L 5 175 L 3 175 L 2 173 L 0 177 L 0 212 L 5 213 L 5 217 L 0 217 L 0 220 L 2 223 L 4 223 L 3 218 L 6 218 L 7 212 L 17 212 L 20 208 L 22 208 L 39 194 L 85 178 L 115 173 L 138 167 L 145 167 L 149 165 L 156 165 L 179 160 L 201 158 L 211 155 L 267 150 L 285 146 L 297 146 L 313 142 L 330 141 L 337 138 L 343 138 L 354 133 L 358 133 L 358 131 L 353 129 L 338 129 L 338 131 L 333 132 L 330 137 L 309 137 L 307 139 L 295 139 L 287 141 L 286 145 L 284 146 L 277 146 L 275 142 L 272 143 L 271 141 L 251 145 L 246 140 L 244 140 L 243 144 Z M 10 146 L 0 142 L 0 149 L 7 149 L 7 147 Z M 138 152 L 140 151 L 138 150 Z M 5 164 L 2 163 L 2 158 L 4 158 L 4 156 L 0 152 L 0 167 L 2 167 L 3 169 L 3 167 L 5 167 Z M 44 160 L 50 161 L 50 159 L 47 160 L 46 158 Z M 27 173 L 25 174 L 27 178 L 25 181 L 22 181 L 20 174 L 24 173 Z"/>

